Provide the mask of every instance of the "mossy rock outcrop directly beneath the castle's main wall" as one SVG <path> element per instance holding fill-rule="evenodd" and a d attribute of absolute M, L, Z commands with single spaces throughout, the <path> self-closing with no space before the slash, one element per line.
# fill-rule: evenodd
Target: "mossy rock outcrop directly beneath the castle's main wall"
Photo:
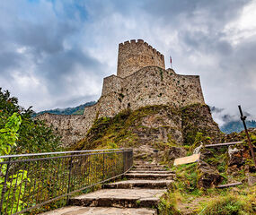
<path fill-rule="evenodd" d="M 197 132 L 211 137 L 212 141 L 219 136 L 218 126 L 206 105 L 142 107 L 112 118 L 99 118 L 73 150 L 100 149 L 114 144 L 136 148 L 135 157 L 139 159 L 153 160 L 154 150 L 158 150 L 158 158 L 167 161 L 185 156 L 187 151 L 183 148 L 183 140 L 192 145 Z"/>

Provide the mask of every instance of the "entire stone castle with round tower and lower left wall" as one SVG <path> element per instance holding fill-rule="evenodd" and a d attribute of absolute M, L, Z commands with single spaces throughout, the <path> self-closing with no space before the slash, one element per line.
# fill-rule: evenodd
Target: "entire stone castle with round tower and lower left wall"
<path fill-rule="evenodd" d="M 65 146 L 84 138 L 96 117 L 115 116 L 121 110 L 152 105 L 185 107 L 205 104 L 198 75 L 181 75 L 165 69 L 164 56 L 142 39 L 119 44 L 117 75 L 104 78 L 98 102 L 84 108 L 82 116 L 43 114 Z"/>

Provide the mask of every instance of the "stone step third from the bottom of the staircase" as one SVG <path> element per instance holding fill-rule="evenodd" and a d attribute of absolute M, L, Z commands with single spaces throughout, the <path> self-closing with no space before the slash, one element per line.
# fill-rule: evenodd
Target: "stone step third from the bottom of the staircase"
<path fill-rule="evenodd" d="M 173 180 L 127 180 L 119 181 L 105 185 L 109 189 L 133 189 L 133 188 L 148 188 L 148 189 L 163 189 L 172 185 Z"/>

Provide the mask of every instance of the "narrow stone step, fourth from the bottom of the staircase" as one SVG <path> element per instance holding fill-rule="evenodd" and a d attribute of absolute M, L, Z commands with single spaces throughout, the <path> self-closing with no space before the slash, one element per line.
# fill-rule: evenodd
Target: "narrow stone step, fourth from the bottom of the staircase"
<path fill-rule="evenodd" d="M 134 178 L 134 179 L 173 179 L 175 174 L 167 173 L 167 174 L 159 174 L 159 173 L 127 173 L 125 175 L 127 178 Z"/>

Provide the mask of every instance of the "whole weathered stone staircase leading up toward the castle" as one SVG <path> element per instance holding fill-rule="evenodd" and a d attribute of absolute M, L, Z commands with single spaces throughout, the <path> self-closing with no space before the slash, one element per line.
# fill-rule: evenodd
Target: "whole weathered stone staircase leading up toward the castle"
<path fill-rule="evenodd" d="M 136 161 L 127 180 L 104 185 L 104 189 L 70 199 L 70 206 L 41 215 L 157 214 L 160 198 L 172 185 L 175 174 L 163 165 Z"/>

